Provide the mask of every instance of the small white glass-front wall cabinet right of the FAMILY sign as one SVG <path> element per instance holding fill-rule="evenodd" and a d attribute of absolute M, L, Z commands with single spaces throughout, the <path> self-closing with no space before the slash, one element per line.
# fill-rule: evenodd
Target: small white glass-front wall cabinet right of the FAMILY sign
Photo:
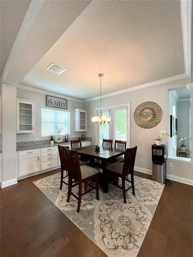
<path fill-rule="evenodd" d="M 74 109 L 74 131 L 87 131 L 87 110 Z"/>

